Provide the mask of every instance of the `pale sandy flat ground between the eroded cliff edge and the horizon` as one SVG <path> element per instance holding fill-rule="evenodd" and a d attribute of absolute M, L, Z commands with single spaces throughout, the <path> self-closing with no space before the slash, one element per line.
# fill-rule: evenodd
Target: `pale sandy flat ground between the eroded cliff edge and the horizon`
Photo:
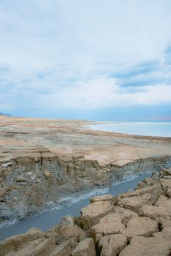
<path fill-rule="evenodd" d="M 0 159 L 52 152 L 82 155 L 100 165 L 125 165 L 135 159 L 171 155 L 170 138 L 100 132 L 92 121 L 0 116 Z"/>

